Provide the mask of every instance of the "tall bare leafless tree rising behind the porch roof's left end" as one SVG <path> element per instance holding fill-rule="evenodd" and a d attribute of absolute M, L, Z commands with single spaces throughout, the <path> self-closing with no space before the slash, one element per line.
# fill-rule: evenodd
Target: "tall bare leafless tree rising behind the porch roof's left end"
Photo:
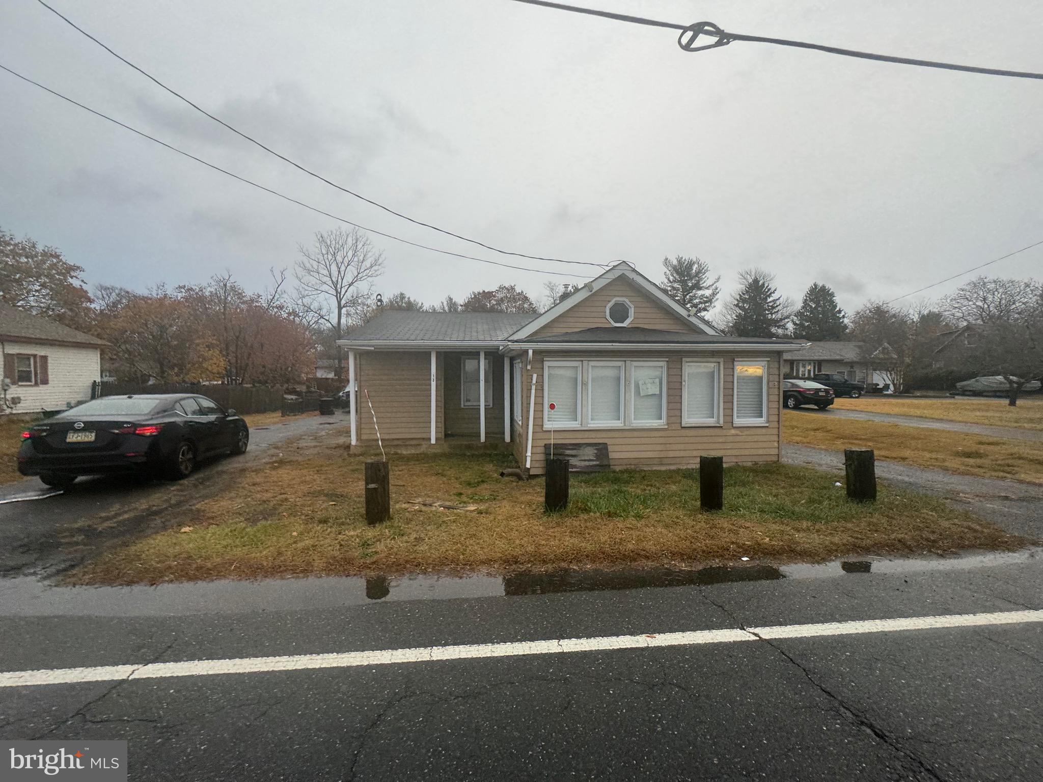
<path fill-rule="evenodd" d="M 373 297 L 372 282 L 384 273 L 384 253 L 358 228 L 317 231 L 315 245 L 298 245 L 293 268 L 297 279 L 294 309 L 311 327 L 325 326 L 339 340 L 348 322 L 359 319 Z M 336 376 L 342 376 L 337 347 Z"/>

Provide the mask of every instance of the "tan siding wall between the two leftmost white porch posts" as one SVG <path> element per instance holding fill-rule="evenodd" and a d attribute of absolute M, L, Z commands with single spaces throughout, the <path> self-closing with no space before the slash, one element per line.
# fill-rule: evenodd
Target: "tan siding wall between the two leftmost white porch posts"
<path fill-rule="evenodd" d="M 384 440 L 431 442 L 431 351 L 359 350 L 359 438 L 374 443 L 373 417 L 366 404 L 369 392 Z M 444 359 L 438 353 L 435 382 L 435 434 L 444 437 Z"/>

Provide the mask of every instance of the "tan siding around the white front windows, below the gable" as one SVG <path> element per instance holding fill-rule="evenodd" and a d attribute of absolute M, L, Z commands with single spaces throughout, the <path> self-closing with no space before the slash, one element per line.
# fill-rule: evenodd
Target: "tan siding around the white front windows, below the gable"
<path fill-rule="evenodd" d="M 532 474 L 544 471 L 543 444 L 551 441 L 550 431 L 543 429 L 543 358 L 534 355 L 532 372 L 536 372 L 536 406 L 533 425 Z M 779 401 L 780 363 L 778 353 L 768 356 L 735 357 L 725 352 L 692 352 L 666 355 L 649 351 L 640 356 L 608 357 L 587 355 L 554 355 L 553 360 L 629 359 L 639 361 L 666 361 L 666 426 L 556 430 L 554 441 L 605 442 L 608 443 L 609 459 L 613 468 L 672 468 L 695 467 L 699 457 L 723 456 L 726 464 L 776 462 L 779 459 L 779 435 L 781 409 Z M 685 359 L 722 361 L 722 404 L 723 425 L 682 426 L 681 425 L 681 366 Z M 732 388 L 734 385 L 734 362 L 768 360 L 768 425 L 732 425 Z M 529 412 L 529 372 L 525 373 L 523 394 L 523 442 L 515 447 L 520 454 L 518 462 L 525 466 L 525 434 Z"/>

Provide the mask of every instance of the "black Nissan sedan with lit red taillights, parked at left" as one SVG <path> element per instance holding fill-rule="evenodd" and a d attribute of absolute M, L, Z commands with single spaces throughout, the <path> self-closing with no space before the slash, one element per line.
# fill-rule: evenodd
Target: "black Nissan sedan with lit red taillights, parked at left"
<path fill-rule="evenodd" d="M 179 481 L 201 459 L 243 454 L 249 442 L 246 421 L 205 396 L 102 396 L 23 432 L 18 471 L 54 487 L 129 472 Z"/>

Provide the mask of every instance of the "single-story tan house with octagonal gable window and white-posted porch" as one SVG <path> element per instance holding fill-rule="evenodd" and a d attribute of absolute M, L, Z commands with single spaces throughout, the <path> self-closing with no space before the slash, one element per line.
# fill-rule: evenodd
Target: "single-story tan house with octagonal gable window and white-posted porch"
<path fill-rule="evenodd" d="M 542 315 L 392 311 L 339 344 L 353 445 L 377 444 L 372 405 L 385 444 L 499 442 L 541 474 L 552 434 L 612 467 L 778 461 L 781 355 L 803 343 L 722 336 L 621 262 Z"/>

